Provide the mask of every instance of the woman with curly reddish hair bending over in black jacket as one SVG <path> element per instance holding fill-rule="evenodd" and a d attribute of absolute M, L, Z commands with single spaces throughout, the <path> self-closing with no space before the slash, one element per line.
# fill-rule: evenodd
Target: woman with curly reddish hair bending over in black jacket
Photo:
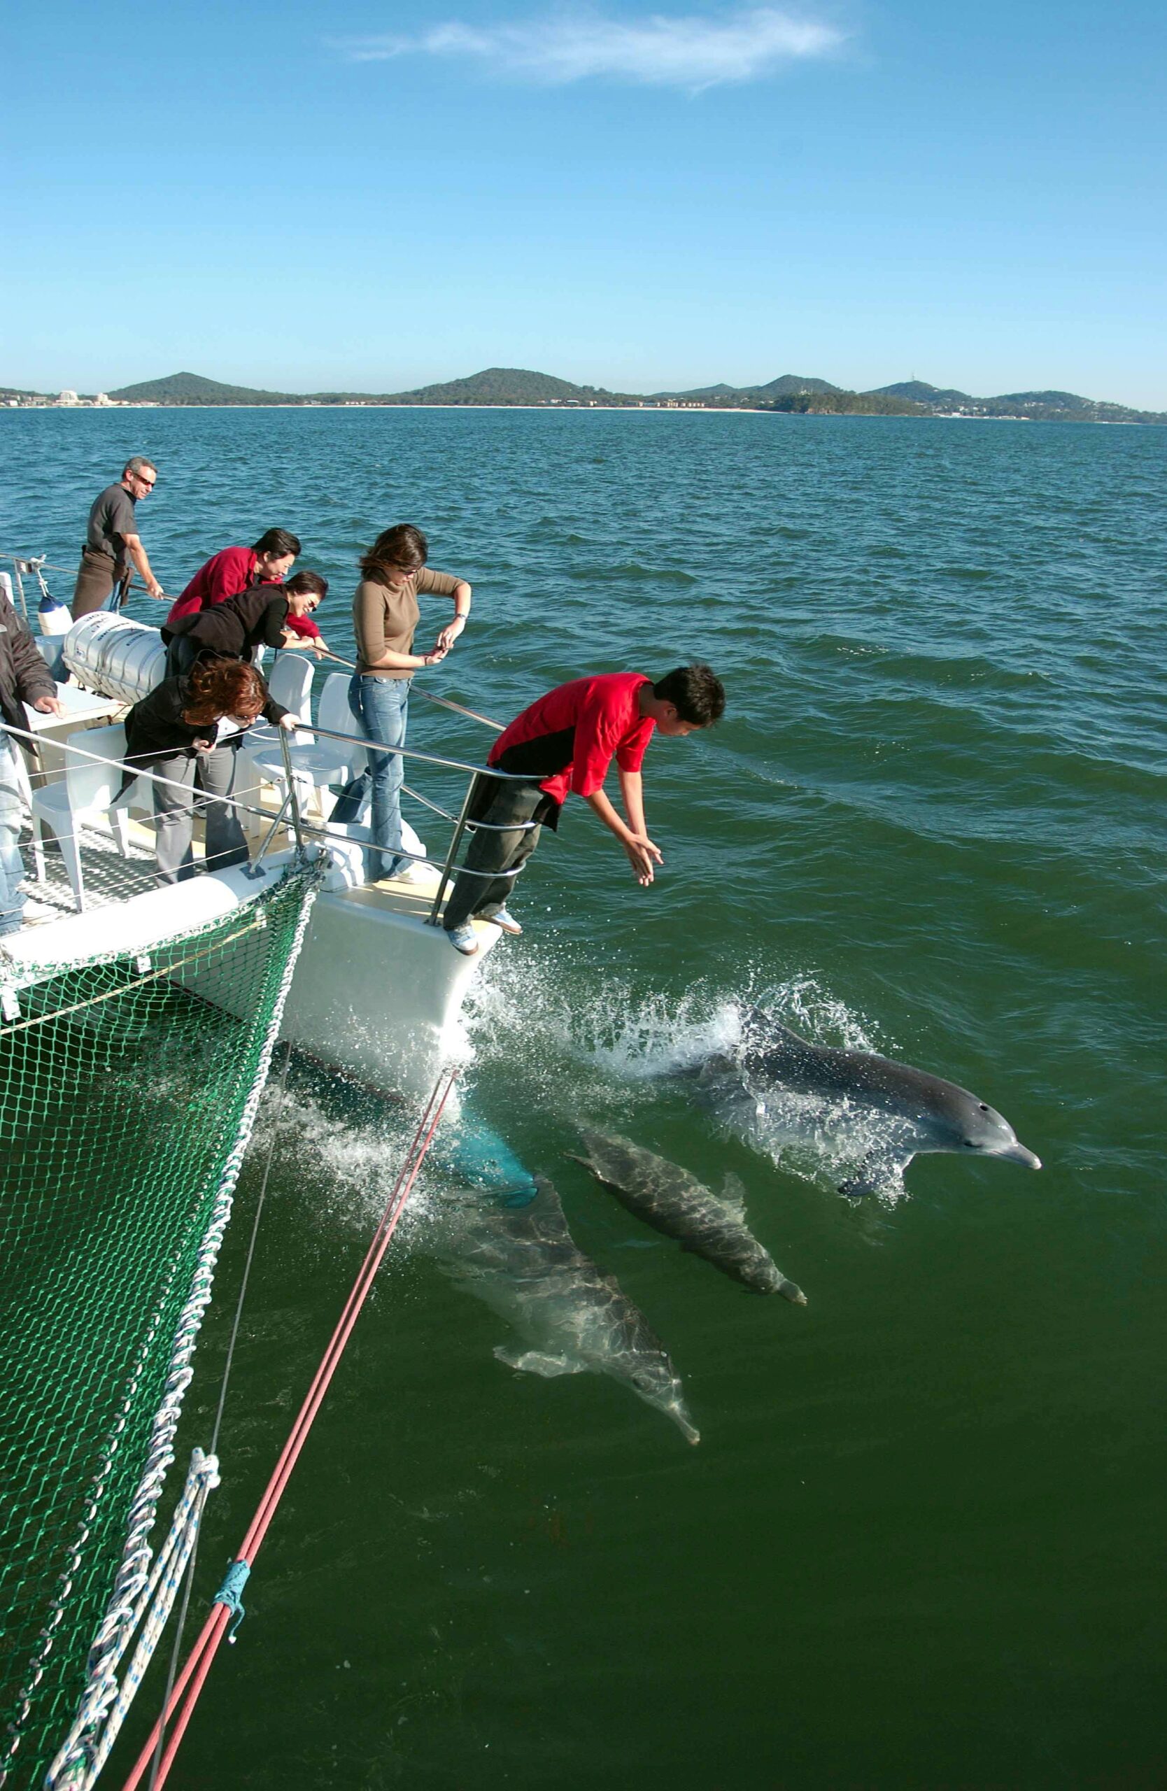
<path fill-rule="evenodd" d="M 227 799 L 238 747 L 260 716 L 286 729 L 299 725 L 299 716 L 272 702 L 256 668 L 240 659 L 199 661 L 188 677 L 168 677 L 125 716 L 129 772 L 170 779 L 154 784 L 159 883 L 193 878 L 195 817 L 206 820 L 208 870 L 247 863 L 247 840 Z M 197 786 L 202 799 L 190 801 L 175 784 L 192 792 Z"/>

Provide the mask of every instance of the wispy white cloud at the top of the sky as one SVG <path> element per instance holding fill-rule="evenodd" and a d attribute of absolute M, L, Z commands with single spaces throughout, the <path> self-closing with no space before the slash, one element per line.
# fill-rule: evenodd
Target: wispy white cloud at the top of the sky
<path fill-rule="evenodd" d="M 342 38 L 335 47 L 356 63 L 449 56 L 546 84 L 609 75 L 700 91 L 727 81 L 759 81 L 784 63 L 827 56 L 841 41 L 843 32 L 832 25 L 752 7 L 721 18 L 655 13 L 623 21 L 596 13 L 562 13 L 510 25 L 451 21 L 417 36 Z"/>

